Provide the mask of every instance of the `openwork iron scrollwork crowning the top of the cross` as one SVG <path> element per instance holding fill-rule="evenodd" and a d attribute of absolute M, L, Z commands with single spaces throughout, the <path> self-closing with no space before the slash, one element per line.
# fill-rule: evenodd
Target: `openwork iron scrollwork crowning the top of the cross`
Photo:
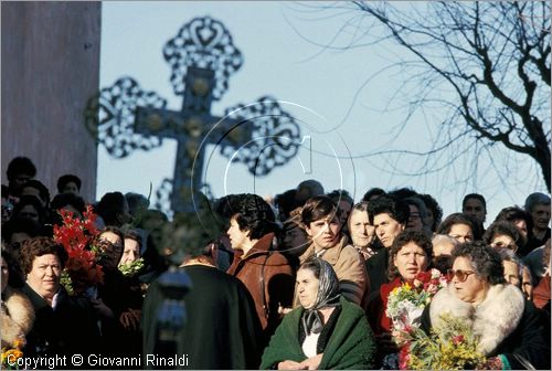
<path fill-rule="evenodd" d="M 163 56 L 172 67 L 174 94 L 184 94 L 188 67 L 209 68 L 215 73 L 213 99 L 219 100 L 229 88 L 230 76 L 243 64 L 242 52 L 234 46 L 232 35 L 220 21 L 210 17 L 194 18 L 169 40 Z"/>

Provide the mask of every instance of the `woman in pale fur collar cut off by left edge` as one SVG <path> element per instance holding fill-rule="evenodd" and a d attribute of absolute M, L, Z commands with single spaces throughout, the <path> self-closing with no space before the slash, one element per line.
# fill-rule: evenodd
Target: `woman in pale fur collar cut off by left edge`
<path fill-rule="evenodd" d="M 3 246 L 2 246 L 3 247 Z M 15 272 L 11 255 L 2 250 L 2 348 L 18 348 L 24 346 L 25 336 L 34 321 L 34 310 L 31 301 L 13 288 Z M 10 273 L 11 271 L 11 273 Z"/>

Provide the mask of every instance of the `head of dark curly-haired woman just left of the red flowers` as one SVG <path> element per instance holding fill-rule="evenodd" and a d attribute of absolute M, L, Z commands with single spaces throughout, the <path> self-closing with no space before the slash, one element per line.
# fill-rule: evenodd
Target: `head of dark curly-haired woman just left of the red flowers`
<path fill-rule="evenodd" d="M 49 237 L 26 240 L 21 246 L 21 271 L 26 284 L 50 305 L 60 290 L 67 258 L 65 248 Z"/>

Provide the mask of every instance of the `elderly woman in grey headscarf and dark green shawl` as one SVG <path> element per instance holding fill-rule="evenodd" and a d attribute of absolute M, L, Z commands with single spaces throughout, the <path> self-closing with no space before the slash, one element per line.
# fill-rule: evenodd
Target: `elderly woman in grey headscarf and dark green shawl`
<path fill-rule="evenodd" d="M 265 349 L 261 369 L 364 370 L 375 344 L 363 310 L 339 294 L 331 266 L 310 257 L 297 272 L 300 306 L 287 314 Z"/>

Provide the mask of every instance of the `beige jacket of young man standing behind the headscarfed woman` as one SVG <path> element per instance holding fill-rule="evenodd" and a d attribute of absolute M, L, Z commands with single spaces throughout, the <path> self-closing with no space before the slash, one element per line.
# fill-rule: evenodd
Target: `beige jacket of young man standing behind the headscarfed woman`
<path fill-rule="evenodd" d="M 367 266 L 360 253 L 352 245 L 349 245 L 347 236 L 342 235 L 341 240 L 333 247 L 327 248 L 321 255 L 322 259 L 328 262 L 339 279 L 341 295 L 349 301 L 352 301 L 361 307 L 364 307 L 365 293 L 370 286 L 368 278 Z M 302 264 L 307 258 L 315 255 L 315 244 L 302 253 L 299 262 Z M 294 308 L 299 305 L 297 286 L 294 296 Z"/>

